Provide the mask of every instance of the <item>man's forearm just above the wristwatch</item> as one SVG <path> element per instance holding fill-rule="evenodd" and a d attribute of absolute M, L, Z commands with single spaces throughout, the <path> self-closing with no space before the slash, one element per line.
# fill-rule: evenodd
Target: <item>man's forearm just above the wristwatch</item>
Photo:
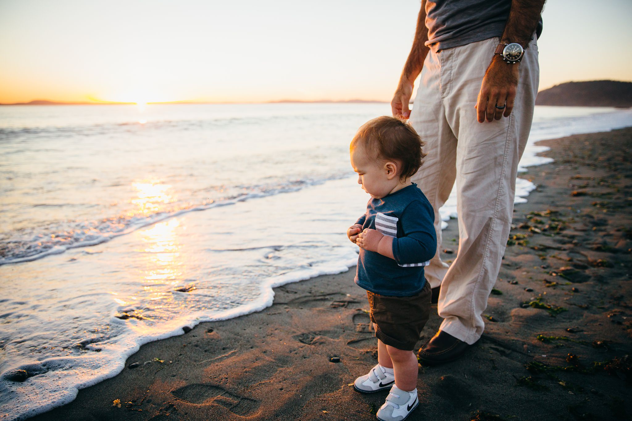
<path fill-rule="evenodd" d="M 501 42 L 517 42 L 526 47 L 531 40 L 546 0 L 512 0 Z"/>

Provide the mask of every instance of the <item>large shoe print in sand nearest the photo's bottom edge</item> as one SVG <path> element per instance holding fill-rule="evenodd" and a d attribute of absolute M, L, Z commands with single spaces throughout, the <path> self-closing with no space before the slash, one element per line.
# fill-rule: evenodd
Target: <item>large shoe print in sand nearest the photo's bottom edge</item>
<path fill-rule="evenodd" d="M 259 401 L 230 393 L 224 388 L 212 384 L 188 384 L 171 391 L 173 396 L 193 405 L 222 405 L 236 415 L 248 417 L 256 412 Z"/>

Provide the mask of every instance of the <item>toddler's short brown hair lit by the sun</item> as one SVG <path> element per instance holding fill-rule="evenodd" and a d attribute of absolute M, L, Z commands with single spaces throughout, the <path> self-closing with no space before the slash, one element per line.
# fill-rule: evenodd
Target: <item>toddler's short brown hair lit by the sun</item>
<path fill-rule="evenodd" d="M 369 157 L 398 160 L 402 163 L 399 179 L 404 181 L 423 165 L 425 143 L 405 121 L 382 116 L 363 124 L 351 140 L 350 150 L 362 145 Z"/>

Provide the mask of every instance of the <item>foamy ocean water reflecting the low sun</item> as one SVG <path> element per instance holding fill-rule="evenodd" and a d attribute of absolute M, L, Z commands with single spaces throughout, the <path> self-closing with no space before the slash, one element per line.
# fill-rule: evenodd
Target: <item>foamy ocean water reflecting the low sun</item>
<path fill-rule="evenodd" d="M 0 107 L 0 418 L 63 405 L 148 341 L 356 263 L 348 144 L 388 104 Z M 536 107 L 533 143 L 632 125 Z M 519 178 L 516 202 L 535 187 Z M 444 223 L 456 216 L 451 196 Z M 26 370 L 24 382 L 6 378 Z"/>

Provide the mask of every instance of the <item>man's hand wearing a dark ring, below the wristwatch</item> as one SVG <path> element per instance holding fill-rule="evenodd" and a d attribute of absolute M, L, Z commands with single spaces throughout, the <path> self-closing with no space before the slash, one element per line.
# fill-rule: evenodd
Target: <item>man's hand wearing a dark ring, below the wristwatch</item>
<path fill-rule="evenodd" d="M 500 120 L 502 116 L 509 117 L 516 98 L 518 66 L 518 63 L 509 64 L 502 61 L 499 54 L 494 55 L 478 92 L 478 101 L 475 105 L 478 122 Z M 502 107 L 505 104 L 504 109 L 496 108 L 496 105 Z"/>

